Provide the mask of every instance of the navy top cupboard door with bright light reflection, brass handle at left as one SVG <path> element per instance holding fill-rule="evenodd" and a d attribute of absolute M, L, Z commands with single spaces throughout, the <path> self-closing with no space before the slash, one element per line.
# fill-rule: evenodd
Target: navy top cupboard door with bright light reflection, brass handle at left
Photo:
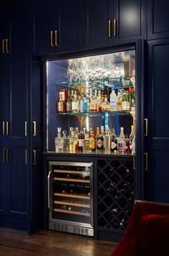
<path fill-rule="evenodd" d="M 146 1 L 115 0 L 113 21 L 115 45 L 146 37 Z"/>

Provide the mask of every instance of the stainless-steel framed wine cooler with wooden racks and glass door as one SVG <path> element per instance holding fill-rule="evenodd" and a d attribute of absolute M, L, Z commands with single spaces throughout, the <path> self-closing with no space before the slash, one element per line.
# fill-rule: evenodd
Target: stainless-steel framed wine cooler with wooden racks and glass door
<path fill-rule="evenodd" d="M 49 161 L 49 229 L 93 236 L 93 163 Z"/>

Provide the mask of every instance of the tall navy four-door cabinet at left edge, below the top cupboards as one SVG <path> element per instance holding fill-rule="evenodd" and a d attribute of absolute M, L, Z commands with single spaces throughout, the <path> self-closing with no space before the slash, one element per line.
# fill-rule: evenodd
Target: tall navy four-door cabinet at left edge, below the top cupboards
<path fill-rule="evenodd" d="M 27 229 L 28 175 L 28 60 L 0 60 L 1 88 L 1 210 L 0 225 Z"/>

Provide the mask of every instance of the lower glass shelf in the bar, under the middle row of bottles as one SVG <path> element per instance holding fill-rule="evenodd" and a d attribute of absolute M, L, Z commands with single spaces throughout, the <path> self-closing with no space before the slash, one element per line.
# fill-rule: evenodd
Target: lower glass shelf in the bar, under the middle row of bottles
<path fill-rule="evenodd" d="M 105 116 L 105 115 L 109 115 L 109 116 L 122 116 L 122 115 L 133 115 L 134 112 L 132 111 L 107 111 L 107 112 L 77 112 L 77 113 L 72 113 L 72 112 L 69 112 L 69 113 L 57 113 L 56 115 L 87 115 L 87 116 Z"/>

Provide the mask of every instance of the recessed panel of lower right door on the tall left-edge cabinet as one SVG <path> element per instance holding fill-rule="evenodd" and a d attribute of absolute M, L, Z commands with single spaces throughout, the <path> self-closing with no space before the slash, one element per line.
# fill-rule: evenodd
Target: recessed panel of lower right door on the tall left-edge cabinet
<path fill-rule="evenodd" d="M 25 148 L 9 149 L 11 213 L 26 216 L 26 162 Z M 12 163 L 12 164 L 11 164 Z"/>

